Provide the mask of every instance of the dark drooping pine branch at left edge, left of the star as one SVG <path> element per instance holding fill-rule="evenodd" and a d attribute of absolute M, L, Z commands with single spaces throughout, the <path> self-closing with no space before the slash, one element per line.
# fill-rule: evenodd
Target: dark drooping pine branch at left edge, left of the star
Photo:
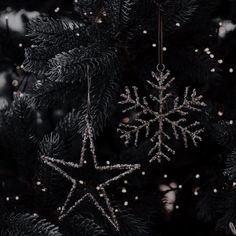
<path fill-rule="evenodd" d="M 36 112 L 34 100 L 25 94 L 15 96 L 11 106 L 3 113 L 1 135 L 6 148 L 11 147 L 13 159 L 18 164 L 18 171 L 25 175 L 32 171 L 35 147 L 37 145 Z M 22 148 L 24 147 L 24 148 Z"/>

